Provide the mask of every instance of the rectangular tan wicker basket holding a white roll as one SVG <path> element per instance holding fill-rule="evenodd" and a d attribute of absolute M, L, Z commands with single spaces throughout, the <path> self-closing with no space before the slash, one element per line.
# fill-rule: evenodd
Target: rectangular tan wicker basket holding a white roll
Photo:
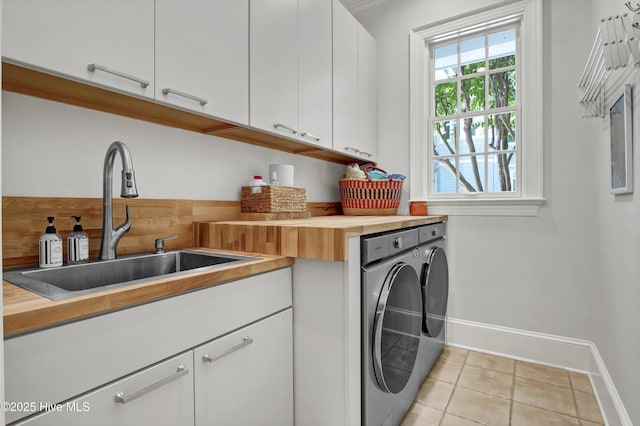
<path fill-rule="evenodd" d="M 242 187 L 242 213 L 306 212 L 307 190 L 290 186 L 261 186 L 252 193 L 250 186 Z"/>

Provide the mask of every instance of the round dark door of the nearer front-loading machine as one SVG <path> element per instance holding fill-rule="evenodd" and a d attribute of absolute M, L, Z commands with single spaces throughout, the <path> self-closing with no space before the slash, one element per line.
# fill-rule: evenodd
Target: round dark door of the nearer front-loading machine
<path fill-rule="evenodd" d="M 395 264 L 382 286 L 373 322 L 373 369 L 385 392 L 404 389 L 416 362 L 422 323 L 420 279 L 406 263 Z"/>

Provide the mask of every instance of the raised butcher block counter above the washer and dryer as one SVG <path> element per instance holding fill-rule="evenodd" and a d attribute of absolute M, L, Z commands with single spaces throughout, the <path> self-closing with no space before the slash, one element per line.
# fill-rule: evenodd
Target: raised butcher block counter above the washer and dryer
<path fill-rule="evenodd" d="M 200 247 L 347 261 L 350 237 L 446 221 L 447 216 L 315 216 L 309 219 L 196 223 Z"/>

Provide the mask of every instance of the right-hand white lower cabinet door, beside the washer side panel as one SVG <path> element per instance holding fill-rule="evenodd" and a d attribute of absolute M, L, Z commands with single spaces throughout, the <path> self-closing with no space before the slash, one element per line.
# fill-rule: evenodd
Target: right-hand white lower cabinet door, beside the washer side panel
<path fill-rule="evenodd" d="M 292 312 L 194 350 L 196 426 L 293 425 Z"/>

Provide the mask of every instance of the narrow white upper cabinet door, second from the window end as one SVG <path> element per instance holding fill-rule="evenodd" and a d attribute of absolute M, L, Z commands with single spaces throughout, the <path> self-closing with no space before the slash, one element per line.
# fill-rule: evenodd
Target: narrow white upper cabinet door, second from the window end
<path fill-rule="evenodd" d="M 358 154 L 358 21 L 333 0 L 333 148 Z"/>

